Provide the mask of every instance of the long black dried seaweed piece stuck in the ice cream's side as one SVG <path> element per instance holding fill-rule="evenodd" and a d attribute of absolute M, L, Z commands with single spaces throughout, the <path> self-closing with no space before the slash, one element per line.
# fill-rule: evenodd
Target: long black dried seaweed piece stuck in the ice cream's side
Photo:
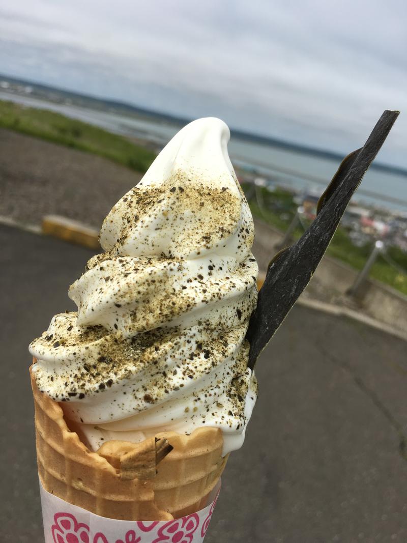
<path fill-rule="evenodd" d="M 278 252 L 270 263 L 259 292 L 246 339 L 250 342 L 249 368 L 295 304 L 325 254 L 354 191 L 383 145 L 398 111 L 385 111 L 364 146 L 342 161 L 317 207 L 317 216 L 298 241 Z"/>

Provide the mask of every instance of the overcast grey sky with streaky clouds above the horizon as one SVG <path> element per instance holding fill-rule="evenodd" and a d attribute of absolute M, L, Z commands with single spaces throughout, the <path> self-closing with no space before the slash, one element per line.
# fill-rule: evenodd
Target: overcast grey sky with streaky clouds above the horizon
<path fill-rule="evenodd" d="M 407 167 L 406 28 L 405 0 L 15 0 L 0 73 L 344 153 L 399 109 Z"/>

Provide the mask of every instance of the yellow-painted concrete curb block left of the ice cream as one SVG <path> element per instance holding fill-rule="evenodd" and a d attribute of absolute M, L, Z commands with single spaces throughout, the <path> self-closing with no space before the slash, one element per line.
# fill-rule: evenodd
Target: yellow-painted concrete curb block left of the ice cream
<path fill-rule="evenodd" d="M 100 249 L 98 231 L 77 220 L 59 215 L 47 215 L 42 219 L 41 232 L 83 247 Z"/>

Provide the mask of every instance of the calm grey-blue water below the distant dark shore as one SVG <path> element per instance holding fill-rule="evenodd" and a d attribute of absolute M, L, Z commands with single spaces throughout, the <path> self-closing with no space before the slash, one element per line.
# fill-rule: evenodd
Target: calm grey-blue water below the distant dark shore
<path fill-rule="evenodd" d="M 55 104 L 44 100 L 0 91 L 0 99 L 13 100 L 27 106 L 63 113 L 98 127 L 130 137 L 144 138 L 158 147 L 164 146 L 179 130 L 168 122 L 125 117 L 116 113 Z M 279 184 L 298 190 L 322 193 L 338 168 L 338 161 L 321 158 L 266 144 L 233 138 L 228 146 L 235 165 L 256 169 Z M 353 149 L 349 149 L 351 151 Z M 376 193 L 372 195 L 371 193 Z M 407 176 L 370 169 L 365 175 L 354 200 L 407 211 Z"/>

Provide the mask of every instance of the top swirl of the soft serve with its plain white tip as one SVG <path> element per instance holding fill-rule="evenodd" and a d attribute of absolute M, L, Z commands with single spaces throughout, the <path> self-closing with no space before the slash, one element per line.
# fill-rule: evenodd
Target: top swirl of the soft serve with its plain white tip
<path fill-rule="evenodd" d="M 244 255 L 238 225 L 251 217 L 241 206 L 229 137 L 226 125 L 214 118 L 183 128 L 106 217 L 102 247 L 122 256 L 189 259 L 214 250 Z"/>

